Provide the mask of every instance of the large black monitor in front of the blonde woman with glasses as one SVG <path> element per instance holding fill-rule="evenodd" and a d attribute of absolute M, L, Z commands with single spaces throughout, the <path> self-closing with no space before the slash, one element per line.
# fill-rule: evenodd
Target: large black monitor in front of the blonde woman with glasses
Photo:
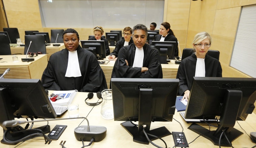
<path fill-rule="evenodd" d="M 246 120 L 254 109 L 256 78 L 194 77 L 185 112 L 187 119 L 215 119 L 220 116 L 216 131 L 195 123 L 189 129 L 219 145 L 220 135 L 229 142 L 242 132 L 233 128 L 236 120 Z M 222 136 L 220 146 L 230 146 Z"/>

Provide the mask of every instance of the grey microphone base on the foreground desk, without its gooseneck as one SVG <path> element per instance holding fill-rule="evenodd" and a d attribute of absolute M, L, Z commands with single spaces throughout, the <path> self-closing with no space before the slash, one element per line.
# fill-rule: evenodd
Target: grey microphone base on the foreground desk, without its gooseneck
<path fill-rule="evenodd" d="M 105 138 L 107 128 L 102 126 L 90 126 L 90 132 L 87 132 L 87 126 L 79 126 L 74 130 L 75 138 L 78 141 L 91 141 L 94 138 L 95 142 L 101 141 Z"/>

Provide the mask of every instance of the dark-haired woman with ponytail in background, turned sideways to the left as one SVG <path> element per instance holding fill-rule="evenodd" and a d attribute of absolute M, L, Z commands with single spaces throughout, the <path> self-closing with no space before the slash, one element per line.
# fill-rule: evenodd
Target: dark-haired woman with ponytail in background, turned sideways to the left
<path fill-rule="evenodd" d="M 169 42 L 176 42 L 176 47 L 174 51 L 174 57 L 179 56 L 179 49 L 178 49 L 178 40 L 175 37 L 173 31 L 170 28 L 170 24 L 168 22 L 163 22 L 160 25 L 159 34 L 156 36 L 155 41 L 169 41 Z"/>

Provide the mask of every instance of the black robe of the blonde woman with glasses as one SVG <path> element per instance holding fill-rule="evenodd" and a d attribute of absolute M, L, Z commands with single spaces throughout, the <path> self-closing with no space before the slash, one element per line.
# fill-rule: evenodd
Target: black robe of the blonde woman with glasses
<path fill-rule="evenodd" d="M 177 72 L 177 79 L 179 82 L 178 95 L 183 96 L 186 90 L 191 90 L 193 84 L 193 77 L 196 72 L 196 55 L 183 59 Z M 205 55 L 205 77 L 222 77 L 222 68 L 219 60 Z"/>

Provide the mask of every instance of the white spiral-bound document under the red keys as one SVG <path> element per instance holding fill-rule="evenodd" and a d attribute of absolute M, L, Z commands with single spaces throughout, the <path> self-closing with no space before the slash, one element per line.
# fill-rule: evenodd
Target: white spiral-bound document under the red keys
<path fill-rule="evenodd" d="M 56 99 L 55 101 L 52 101 L 50 98 L 50 101 L 52 105 L 61 105 L 61 106 L 67 106 L 70 104 L 75 97 L 77 90 L 67 90 L 67 91 L 54 91 L 53 94 L 58 94 L 61 98 Z"/>

